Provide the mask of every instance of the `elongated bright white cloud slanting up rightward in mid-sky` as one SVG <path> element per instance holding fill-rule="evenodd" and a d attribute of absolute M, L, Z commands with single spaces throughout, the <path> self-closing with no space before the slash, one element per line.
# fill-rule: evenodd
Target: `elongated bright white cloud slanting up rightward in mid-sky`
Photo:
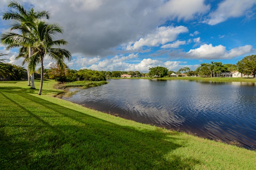
<path fill-rule="evenodd" d="M 188 28 L 184 26 L 168 26 L 168 27 L 158 27 L 154 33 L 146 35 L 144 38 L 140 38 L 133 45 L 128 45 L 127 50 L 140 49 L 143 46 L 159 46 L 165 43 L 174 41 L 180 33 L 188 32 Z"/>

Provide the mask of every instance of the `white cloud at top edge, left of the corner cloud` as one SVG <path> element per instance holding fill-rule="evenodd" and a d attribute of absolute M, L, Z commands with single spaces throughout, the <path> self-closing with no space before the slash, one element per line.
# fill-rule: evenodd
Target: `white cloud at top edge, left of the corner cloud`
<path fill-rule="evenodd" d="M 164 17 L 177 17 L 178 20 L 190 20 L 209 10 L 210 5 L 205 5 L 204 0 L 169 0 L 158 9 L 158 14 Z"/>

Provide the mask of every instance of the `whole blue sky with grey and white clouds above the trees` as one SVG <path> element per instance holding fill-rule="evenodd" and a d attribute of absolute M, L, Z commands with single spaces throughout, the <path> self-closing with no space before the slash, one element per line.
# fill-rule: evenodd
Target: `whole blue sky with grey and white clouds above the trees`
<path fill-rule="evenodd" d="M 17 0 L 47 10 L 64 29 L 71 69 L 148 72 L 164 66 L 195 70 L 201 63 L 236 64 L 255 54 L 256 0 Z M 0 2 L 0 15 L 10 10 Z M 1 17 L 2 18 L 2 17 Z M 0 20 L 0 32 L 10 21 Z M 1 58 L 15 61 L 18 49 Z M 46 56 L 44 66 L 52 63 Z M 26 65 L 24 66 L 26 68 Z"/>

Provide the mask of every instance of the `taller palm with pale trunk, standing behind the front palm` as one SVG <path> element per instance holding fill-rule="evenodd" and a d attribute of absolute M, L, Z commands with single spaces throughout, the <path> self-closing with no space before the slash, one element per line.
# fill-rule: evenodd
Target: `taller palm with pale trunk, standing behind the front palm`
<path fill-rule="evenodd" d="M 46 18 L 46 19 L 50 18 L 50 14 L 47 11 L 34 12 L 33 8 L 27 11 L 23 6 L 21 6 L 15 1 L 10 1 L 8 4 L 8 7 L 14 8 L 15 10 L 18 11 L 18 12 L 9 11 L 3 14 L 4 20 L 13 20 L 15 22 L 15 24 L 12 25 L 10 30 L 16 29 L 17 24 L 20 24 L 20 26 L 22 26 L 22 24 L 27 23 L 28 21 L 32 22 L 34 20 L 41 19 L 41 18 Z M 26 31 L 25 30 L 22 30 L 22 31 L 23 31 L 22 33 L 26 35 Z M 9 48 L 16 47 L 16 46 L 17 45 L 9 44 Z M 33 53 L 30 46 L 28 47 L 28 51 L 29 51 L 28 55 L 24 56 L 25 57 L 24 61 L 26 61 L 26 58 L 30 57 Z M 28 70 L 28 86 L 30 86 L 30 77 L 31 77 L 31 88 L 35 89 L 34 72 L 30 73 L 30 71 Z"/>

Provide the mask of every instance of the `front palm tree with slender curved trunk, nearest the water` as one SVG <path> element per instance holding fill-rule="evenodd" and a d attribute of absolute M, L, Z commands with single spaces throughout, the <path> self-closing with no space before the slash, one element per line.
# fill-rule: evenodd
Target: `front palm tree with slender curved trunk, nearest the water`
<path fill-rule="evenodd" d="M 27 22 L 22 26 L 17 24 L 15 28 L 16 30 L 25 30 L 26 35 L 12 32 L 2 33 L 1 41 L 4 44 L 10 44 L 12 46 L 32 47 L 34 53 L 28 58 L 28 70 L 30 72 L 35 72 L 36 64 L 41 63 L 41 81 L 38 92 L 38 95 L 41 95 L 44 74 L 44 56 L 48 55 L 48 57 L 56 61 L 60 68 L 65 67 L 65 59 L 70 61 L 72 58 L 71 53 L 68 50 L 56 48 L 60 47 L 60 45 L 66 45 L 67 41 L 64 39 L 53 40 L 57 33 L 63 32 L 62 27 L 57 23 L 48 24 L 44 21 L 37 20 Z"/>

